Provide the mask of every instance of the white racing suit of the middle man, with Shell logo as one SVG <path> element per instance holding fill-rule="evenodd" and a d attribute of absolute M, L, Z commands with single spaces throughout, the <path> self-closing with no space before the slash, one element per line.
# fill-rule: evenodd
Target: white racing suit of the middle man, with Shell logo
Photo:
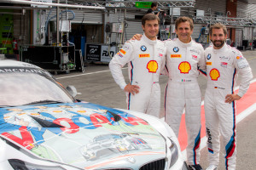
<path fill-rule="evenodd" d="M 188 133 L 187 157 L 189 165 L 199 164 L 201 142 L 201 91 L 197 83 L 199 68 L 205 68 L 204 48 L 191 40 L 178 38 L 166 41 L 166 122 L 178 136 L 181 116 L 185 108 Z M 202 72 L 206 74 L 206 72 Z"/>

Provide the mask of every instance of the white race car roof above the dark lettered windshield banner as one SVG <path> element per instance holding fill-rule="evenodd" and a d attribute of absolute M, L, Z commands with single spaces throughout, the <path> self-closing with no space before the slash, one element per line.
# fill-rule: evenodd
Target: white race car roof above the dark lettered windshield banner
<path fill-rule="evenodd" d="M 12 60 L 12 59 L 3 59 L 0 60 L 0 67 L 25 67 L 25 68 L 37 68 L 40 69 L 40 67 L 36 65 L 32 65 L 29 63 L 25 63 L 22 61 Z"/>

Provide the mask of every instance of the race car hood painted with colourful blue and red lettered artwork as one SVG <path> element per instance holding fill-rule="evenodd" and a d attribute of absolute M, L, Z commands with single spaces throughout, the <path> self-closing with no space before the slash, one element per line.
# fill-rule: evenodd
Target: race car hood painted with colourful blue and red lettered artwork
<path fill-rule="evenodd" d="M 131 167 L 166 156 L 143 118 L 86 102 L 0 109 L 0 135 L 39 160 L 83 169 Z"/>

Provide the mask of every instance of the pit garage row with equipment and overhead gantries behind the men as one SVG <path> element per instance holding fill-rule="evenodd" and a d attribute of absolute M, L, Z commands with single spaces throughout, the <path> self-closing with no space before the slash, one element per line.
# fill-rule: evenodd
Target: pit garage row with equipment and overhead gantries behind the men
<path fill-rule="evenodd" d="M 55 73 L 84 71 L 86 64 L 108 64 L 125 41 L 143 33 L 141 19 L 153 1 L 3 0 L 0 3 L 2 58 L 40 65 Z M 239 8 L 238 8 L 239 7 Z M 174 22 L 189 16 L 193 38 L 210 44 L 209 26 L 228 27 L 228 43 L 240 50 L 256 48 L 253 1 L 159 1 L 160 39 L 176 37 Z M 35 56 L 35 54 L 37 56 Z"/>

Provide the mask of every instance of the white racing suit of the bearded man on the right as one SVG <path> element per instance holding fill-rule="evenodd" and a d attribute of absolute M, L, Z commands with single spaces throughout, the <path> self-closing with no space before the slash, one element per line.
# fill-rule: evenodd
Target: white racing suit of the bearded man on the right
<path fill-rule="evenodd" d="M 253 74 L 241 52 L 224 44 L 223 48 L 209 47 L 205 51 L 207 60 L 207 90 L 205 113 L 207 127 L 208 159 L 218 166 L 219 129 L 225 147 L 226 169 L 236 168 L 236 109 L 235 101 L 225 103 L 227 94 L 234 94 L 236 73 L 241 77 L 238 95 L 247 92 Z"/>

